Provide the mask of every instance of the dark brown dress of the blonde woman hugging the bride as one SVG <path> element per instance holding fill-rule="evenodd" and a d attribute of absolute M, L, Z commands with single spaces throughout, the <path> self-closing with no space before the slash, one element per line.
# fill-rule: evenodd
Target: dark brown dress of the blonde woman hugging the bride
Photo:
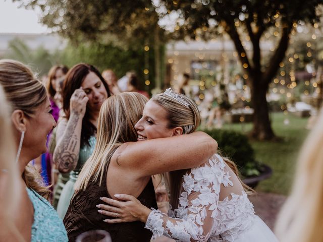
<path fill-rule="evenodd" d="M 76 237 L 89 230 L 102 229 L 108 231 L 113 242 L 125 241 L 150 241 L 152 233 L 145 229 L 145 224 L 140 221 L 109 224 L 103 222 L 103 219 L 110 218 L 97 212 L 95 207 L 102 203 L 100 197 L 110 197 L 106 189 L 106 171 L 99 186 L 99 180 L 95 183 L 89 183 L 85 191 L 78 192 L 71 200 L 70 206 L 64 218 L 69 241 L 75 241 Z M 150 179 L 147 186 L 137 198 L 148 208 L 157 209 L 155 191 Z"/>

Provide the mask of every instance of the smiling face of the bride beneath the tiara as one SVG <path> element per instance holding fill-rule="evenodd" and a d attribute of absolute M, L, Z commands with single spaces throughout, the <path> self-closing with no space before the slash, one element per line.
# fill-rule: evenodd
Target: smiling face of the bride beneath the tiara
<path fill-rule="evenodd" d="M 168 128 L 167 110 L 156 102 L 149 100 L 142 112 L 142 117 L 135 125 L 138 141 L 171 137 L 173 129 Z"/>

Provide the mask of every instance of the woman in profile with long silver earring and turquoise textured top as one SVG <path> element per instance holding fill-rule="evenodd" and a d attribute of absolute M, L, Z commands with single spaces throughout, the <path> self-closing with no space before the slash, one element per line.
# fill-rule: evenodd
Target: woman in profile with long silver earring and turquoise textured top
<path fill-rule="evenodd" d="M 67 241 L 62 220 L 46 200 L 50 191 L 40 185 L 39 173 L 28 164 L 46 152 L 47 135 L 56 127 L 46 89 L 28 67 L 7 59 L 0 61 L 0 84 L 11 105 L 18 147 L 16 162 L 21 174 L 20 186 L 15 188 L 21 206 L 16 209 L 19 212 L 11 214 L 15 227 L 25 241 Z"/>

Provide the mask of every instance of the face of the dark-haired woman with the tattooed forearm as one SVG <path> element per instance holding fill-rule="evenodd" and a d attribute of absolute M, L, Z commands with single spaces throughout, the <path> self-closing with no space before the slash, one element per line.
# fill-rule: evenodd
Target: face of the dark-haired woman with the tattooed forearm
<path fill-rule="evenodd" d="M 87 107 L 92 112 L 98 112 L 102 103 L 107 98 L 106 90 L 100 78 L 94 72 L 89 72 L 82 82 L 81 87 L 89 98 Z"/>

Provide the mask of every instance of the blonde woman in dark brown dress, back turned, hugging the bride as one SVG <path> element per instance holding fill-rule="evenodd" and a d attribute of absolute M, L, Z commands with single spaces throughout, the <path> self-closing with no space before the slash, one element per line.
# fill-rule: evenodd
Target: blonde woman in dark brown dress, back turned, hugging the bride
<path fill-rule="evenodd" d="M 177 129 L 168 130 L 164 139 L 135 142 L 142 139 L 134 126 L 146 100 L 142 94 L 124 92 L 103 103 L 95 149 L 79 174 L 64 218 L 70 241 L 93 229 L 110 232 L 114 242 L 150 241 L 152 233 L 140 221 L 104 223 L 95 207 L 100 198 L 129 193 L 145 206 L 156 208 L 151 175 L 199 165 L 216 151 L 217 143 L 208 135 L 177 136 Z"/>

